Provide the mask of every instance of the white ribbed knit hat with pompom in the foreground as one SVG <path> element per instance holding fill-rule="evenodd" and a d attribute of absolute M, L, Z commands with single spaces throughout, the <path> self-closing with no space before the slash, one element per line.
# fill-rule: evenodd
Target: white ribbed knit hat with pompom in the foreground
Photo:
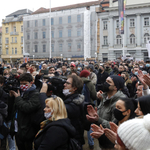
<path fill-rule="evenodd" d="M 118 136 L 129 150 L 150 150 L 150 114 L 122 123 Z"/>

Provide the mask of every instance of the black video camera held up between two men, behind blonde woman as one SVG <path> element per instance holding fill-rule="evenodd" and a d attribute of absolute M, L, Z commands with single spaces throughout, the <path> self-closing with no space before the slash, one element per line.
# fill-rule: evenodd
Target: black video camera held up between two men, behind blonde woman
<path fill-rule="evenodd" d="M 62 99 L 64 98 L 62 91 L 64 89 L 64 84 L 66 83 L 67 80 L 66 77 L 64 76 L 49 77 L 47 75 L 44 75 L 42 78 L 37 79 L 36 76 L 35 85 L 37 86 L 37 89 L 40 90 L 42 88 L 43 80 L 45 80 L 45 82 L 48 85 L 47 91 L 52 91 L 54 95 L 57 95 Z"/>

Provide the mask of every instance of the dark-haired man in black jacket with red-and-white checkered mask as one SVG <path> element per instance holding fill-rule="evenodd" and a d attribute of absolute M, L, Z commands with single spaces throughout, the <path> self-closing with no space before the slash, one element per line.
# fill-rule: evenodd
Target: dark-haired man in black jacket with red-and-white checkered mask
<path fill-rule="evenodd" d="M 32 150 L 32 142 L 44 114 L 32 75 L 24 73 L 19 77 L 19 81 L 21 93 L 19 90 L 10 91 L 10 96 L 15 97 L 10 134 L 15 135 L 18 150 Z M 39 112 L 41 114 L 37 114 Z"/>

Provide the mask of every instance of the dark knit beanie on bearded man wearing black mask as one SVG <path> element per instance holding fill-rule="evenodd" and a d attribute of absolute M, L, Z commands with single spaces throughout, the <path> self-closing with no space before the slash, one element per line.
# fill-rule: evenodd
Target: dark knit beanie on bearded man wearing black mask
<path fill-rule="evenodd" d="M 121 76 L 111 75 L 110 78 L 113 80 L 117 91 L 124 88 L 124 80 Z"/>

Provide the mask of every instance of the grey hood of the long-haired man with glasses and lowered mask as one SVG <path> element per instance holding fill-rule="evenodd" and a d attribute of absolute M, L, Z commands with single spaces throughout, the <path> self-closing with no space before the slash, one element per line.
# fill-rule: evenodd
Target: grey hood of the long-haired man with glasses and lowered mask
<path fill-rule="evenodd" d="M 80 105 L 84 102 L 84 95 L 81 95 L 81 94 L 68 95 L 64 102 L 65 102 L 65 104 L 73 102 L 77 105 Z"/>

